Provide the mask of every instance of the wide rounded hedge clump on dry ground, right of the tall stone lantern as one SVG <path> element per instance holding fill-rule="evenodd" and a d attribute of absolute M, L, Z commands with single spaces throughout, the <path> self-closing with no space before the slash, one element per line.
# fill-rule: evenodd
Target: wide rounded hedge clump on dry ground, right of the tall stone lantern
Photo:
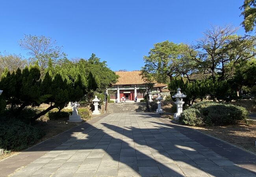
<path fill-rule="evenodd" d="M 179 122 L 191 126 L 222 126 L 246 120 L 247 116 L 244 107 L 202 101 L 184 110 Z"/>

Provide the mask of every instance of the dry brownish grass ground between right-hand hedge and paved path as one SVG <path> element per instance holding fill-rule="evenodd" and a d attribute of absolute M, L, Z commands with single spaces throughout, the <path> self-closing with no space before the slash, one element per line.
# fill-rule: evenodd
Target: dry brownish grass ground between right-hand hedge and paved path
<path fill-rule="evenodd" d="M 248 151 L 256 153 L 256 121 L 239 123 L 225 127 L 191 127 Z"/>

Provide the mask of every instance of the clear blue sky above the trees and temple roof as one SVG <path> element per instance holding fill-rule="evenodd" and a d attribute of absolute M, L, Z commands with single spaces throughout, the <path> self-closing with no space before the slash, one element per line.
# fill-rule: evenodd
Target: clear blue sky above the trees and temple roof
<path fill-rule="evenodd" d="M 91 53 L 112 70 L 139 70 L 153 44 L 193 42 L 212 25 L 240 26 L 243 0 L 3 0 L 0 52 L 21 54 L 24 34 L 52 37 L 67 57 Z M 244 33 L 242 27 L 239 34 Z"/>

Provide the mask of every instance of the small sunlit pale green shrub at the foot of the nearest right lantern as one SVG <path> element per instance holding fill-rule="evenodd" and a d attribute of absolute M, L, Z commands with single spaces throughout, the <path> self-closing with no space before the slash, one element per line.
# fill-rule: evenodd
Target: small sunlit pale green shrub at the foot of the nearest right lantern
<path fill-rule="evenodd" d="M 184 110 L 180 114 L 179 122 L 184 125 L 190 125 L 190 126 L 204 125 L 203 120 L 200 117 L 199 110 L 195 108 L 189 108 Z"/>

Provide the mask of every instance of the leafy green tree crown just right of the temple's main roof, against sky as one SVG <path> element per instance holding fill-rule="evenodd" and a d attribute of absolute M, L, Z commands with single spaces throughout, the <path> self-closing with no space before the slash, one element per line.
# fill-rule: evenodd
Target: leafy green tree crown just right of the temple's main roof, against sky
<path fill-rule="evenodd" d="M 191 69 L 191 61 L 187 61 L 184 57 L 185 48 L 184 44 L 174 44 L 169 41 L 154 44 L 154 48 L 150 49 L 148 56 L 143 57 L 145 66 L 141 68 L 143 78 L 147 83 L 154 81 L 167 83 L 173 75 Z M 181 68 L 184 70 L 180 71 Z"/>

